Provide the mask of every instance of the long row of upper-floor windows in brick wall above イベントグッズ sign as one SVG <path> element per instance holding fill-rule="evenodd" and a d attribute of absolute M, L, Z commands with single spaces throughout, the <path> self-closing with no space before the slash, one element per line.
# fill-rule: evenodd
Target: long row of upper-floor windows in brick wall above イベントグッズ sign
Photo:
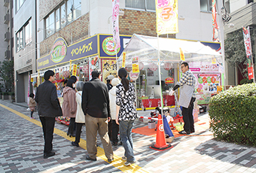
<path fill-rule="evenodd" d="M 49 37 L 59 29 L 64 28 L 68 23 L 81 16 L 81 0 L 68 0 L 59 5 L 45 19 L 45 35 Z"/>

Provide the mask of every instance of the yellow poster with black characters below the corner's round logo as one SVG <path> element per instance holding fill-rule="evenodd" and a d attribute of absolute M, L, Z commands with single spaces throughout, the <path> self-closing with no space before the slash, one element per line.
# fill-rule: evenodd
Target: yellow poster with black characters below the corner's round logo
<path fill-rule="evenodd" d="M 106 78 L 109 75 L 117 77 L 117 60 L 116 59 L 102 59 L 102 81 L 107 83 Z"/>

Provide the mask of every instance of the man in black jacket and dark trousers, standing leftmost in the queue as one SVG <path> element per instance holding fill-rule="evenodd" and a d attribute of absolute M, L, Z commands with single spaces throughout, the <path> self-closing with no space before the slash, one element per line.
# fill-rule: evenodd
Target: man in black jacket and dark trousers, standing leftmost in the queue
<path fill-rule="evenodd" d="M 35 102 L 38 102 L 38 115 L 44 132 L 44 159 L 54 156 L 53 129 L 55 117 L 62 116 L 62 110 L 57 98 L 56 86 L 53 85 L 54 72 L 44 72 L 44 83 L 41 83 L 35 93 Z"/>

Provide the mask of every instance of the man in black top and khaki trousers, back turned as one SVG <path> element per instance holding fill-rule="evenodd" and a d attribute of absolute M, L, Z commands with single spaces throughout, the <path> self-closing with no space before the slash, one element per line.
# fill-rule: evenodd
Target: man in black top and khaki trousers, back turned
<path fill-rule="evenodd" d="M 111 120 L 108 88 L 100 80 L 101 71 L 92 71 L 93 79 L 84 83 L 82 93 L 82 109 L 85 114 L 85 128 L 87 132 L 87 151 L 86 159 L 96 161 L 97 147 L 96 135 L 102 140 L 105 156 L 108 162 L 113 161 L 113 150 L 108 136 L 108 122 Z"/>

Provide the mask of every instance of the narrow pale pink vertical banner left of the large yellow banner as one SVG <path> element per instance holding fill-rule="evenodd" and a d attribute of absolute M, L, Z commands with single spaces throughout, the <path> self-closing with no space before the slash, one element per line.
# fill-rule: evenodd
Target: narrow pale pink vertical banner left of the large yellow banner
<path fill-rule="evenodd" d="M 116 46 L 114 50 L 120 47 L 119 37 L 119 0 L 112 0 L 112 26 L 113 26 L 113 40 Z"/>

